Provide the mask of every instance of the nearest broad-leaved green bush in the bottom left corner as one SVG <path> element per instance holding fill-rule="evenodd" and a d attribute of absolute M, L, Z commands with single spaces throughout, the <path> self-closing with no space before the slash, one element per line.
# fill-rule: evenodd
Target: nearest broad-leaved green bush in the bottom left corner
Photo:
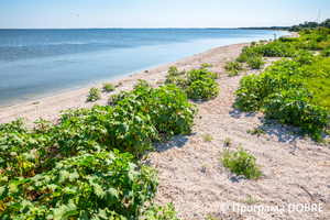
<path fill-rule="evenodd" d="M 0 187 L 1 219 L 133 219 L 155 197 L 156 172 L 118 152 L 84 154 L 48 173 L 12 179 Z"/>

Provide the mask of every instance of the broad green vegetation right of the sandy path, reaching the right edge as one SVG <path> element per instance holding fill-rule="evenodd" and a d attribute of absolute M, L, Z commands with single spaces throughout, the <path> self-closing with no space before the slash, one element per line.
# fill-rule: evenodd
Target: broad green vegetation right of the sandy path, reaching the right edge
<path fill-rule="evenodd" d="M 301 31 L 300 37 L 279 37 L 264 46 L 244 47 L 245 57 L 292 57 L 273 63 L 260 75 L 244 76 L 237 90 L 238 107 L 262 110 L 270 119 L 301 128 L 322 142 L 321 133 L 330 122 L 330 30 Z M 311 51 L 321 51 L 315 56 Z M 248 61 L 248 58 L 246 58 Z"/>

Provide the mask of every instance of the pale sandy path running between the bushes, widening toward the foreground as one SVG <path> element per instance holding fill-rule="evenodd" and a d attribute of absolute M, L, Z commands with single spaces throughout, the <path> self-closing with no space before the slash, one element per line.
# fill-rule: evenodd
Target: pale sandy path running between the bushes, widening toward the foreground
<path fill-rule="evenodd" d="M 235 52 L 239 55 L 239 51 Z M 213 63 L 217 57 L 221 55 L 205 62 Z M 275 59 L 268 58 L 267 65 Z M 155 200 L 163 204 L 173 201 L 179 217 L 189 220 L 204 219 L 206 215 L 218 219 L 330 219 L 329 144 L 321 145 L 309 138 L 289 135 L 290 128 L 283 128 L 276 121 L 268 121 L 271 125 L 267 127 L 261 112 L 238 110 L 234 92 L 242 76 L 228 77 L 222 68 L 209 69 L 221 73 L 218 79 L 220 94 L 213 100 L 197 102 L 202 119 L 196 120 L 193 134 L 176 136 L 147 157 L 147 163 L 160 170 L 161 186 Z M 258 73 L 248 70 L 249 75 Z M 249 134 L 246 130 L 253 128 L 263 128 L 266 134 L 258 138 Z M 204 141 L 201 135 L 206 134 L 213 140 Z M 235 176 L 218 162 L 227 138 L 233 140 L 232 148 L 241 144 L 256 157 L 257 164 L 263 166 L 264 177 L 261 180 Z M 249 195 L 258 201 L 252 208 L 273 206 L 278 211 L 256 209 L 240 215 L 238 205 L 248 208 L 243 200 Z M 222 204 L 230 206 L 228 211 L 221 210 Z M 321 204 L 323 212 L 289 212 L 289 208 L 293 209 L 290 204 Z"/>

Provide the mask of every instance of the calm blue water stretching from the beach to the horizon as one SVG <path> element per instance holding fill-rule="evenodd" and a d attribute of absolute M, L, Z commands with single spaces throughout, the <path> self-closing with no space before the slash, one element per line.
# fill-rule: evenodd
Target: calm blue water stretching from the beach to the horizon
<path fill-rule="evenodd" d="M 0 107 L 121 78 L 207 50 L 287 35 L 211 29 L 0 30 Z"/>

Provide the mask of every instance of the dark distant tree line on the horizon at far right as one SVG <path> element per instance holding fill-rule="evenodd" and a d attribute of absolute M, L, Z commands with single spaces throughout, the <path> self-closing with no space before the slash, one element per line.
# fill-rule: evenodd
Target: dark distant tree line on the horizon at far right
<path fill-rule="evenodd" d="M 254 28 L 241 28 L 241 29 L 253 29 L 253 30 L 286 30 L 286 31 L 301 31 L 304 29 L 317 29 L 317 28 L 328 28 L 330 29 L 330 19 L 324 20 L 321 23 L 307 22 L 300 23 L 299 25 L 293 26 L 254 26 Z"/>

